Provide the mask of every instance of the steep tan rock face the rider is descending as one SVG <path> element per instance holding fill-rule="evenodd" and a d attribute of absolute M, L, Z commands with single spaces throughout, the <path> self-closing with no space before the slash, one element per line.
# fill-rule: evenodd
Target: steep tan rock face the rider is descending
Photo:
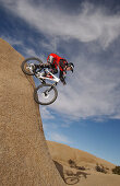
<path fill-rule="evenodd" d="M 0 38 L 0 185 L 64 186 L 46 144 L 32 77 Z"/>

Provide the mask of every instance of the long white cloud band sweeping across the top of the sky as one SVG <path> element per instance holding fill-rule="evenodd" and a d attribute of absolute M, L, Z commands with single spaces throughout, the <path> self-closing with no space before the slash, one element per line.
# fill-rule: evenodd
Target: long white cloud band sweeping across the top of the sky
<path fill-rule="evenodd" d="M 51 36 L 75 38 L 85 43 L 98 39 L 103 47 L 107 47 L 120 35 L 120 15 L 108 15 L 91 3 L 83 3 L 83 10 L 74 15 L 61 12 L 58 8 L 52 11 L 44 3 L 35 5 L 28 0 L 2 3 L 33 27 Z"/>

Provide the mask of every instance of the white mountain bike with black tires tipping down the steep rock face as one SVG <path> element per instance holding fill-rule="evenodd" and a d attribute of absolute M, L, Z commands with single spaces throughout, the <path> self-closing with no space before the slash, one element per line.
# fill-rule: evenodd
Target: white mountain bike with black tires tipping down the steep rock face
<path fill-rule="evenodd" d="M 35 70 L 35 65 L 43 65 L 39 58 L 26 58 L 22 62 L 22 71 L 27 75 L 35 75 L 40 80 L 41 84 L 34 89 L 34 100 L 40 105 L 49 105 L 57 100 L 58 91 L 56 85 L 60 81 L 55 74 L 52 74 L 46 68 L 39 68 Z M 46 80 L 52 81 L 53 83 L 47 83 Z"/>

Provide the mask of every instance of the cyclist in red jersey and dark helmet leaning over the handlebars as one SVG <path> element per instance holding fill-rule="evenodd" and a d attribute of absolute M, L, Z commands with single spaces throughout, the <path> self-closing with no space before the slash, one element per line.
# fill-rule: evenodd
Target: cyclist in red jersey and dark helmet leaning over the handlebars
<path fill-rule="evenodd" d="M 68 62 L 64 58 L 61 58 L 56 54 L 50 54 L 47 58 L 47 63 L 35 65 L 35 70 L 37 68 L 49 68 L 50 72 L 53 74 L 58 73 L 58 68 L 59 68 L 60 70 L 59 78 L 63 84 L 67 84 L 64 80 L 67 71 L 71 70 L 73 72 L 74 65 L 72 62 Z M 45 74 L 45 75 L 49 75 L 49 74 Z"/>

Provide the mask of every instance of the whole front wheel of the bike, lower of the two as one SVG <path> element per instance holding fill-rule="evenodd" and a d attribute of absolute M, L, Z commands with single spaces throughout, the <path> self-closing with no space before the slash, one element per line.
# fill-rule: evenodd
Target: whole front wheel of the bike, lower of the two
<path fill-rule="evenodd" d="M 40 84 L 34 90 L 34 100 L 40 105 L 50 105 L 57 96 L 58 91 L 52 84 Z"/>

